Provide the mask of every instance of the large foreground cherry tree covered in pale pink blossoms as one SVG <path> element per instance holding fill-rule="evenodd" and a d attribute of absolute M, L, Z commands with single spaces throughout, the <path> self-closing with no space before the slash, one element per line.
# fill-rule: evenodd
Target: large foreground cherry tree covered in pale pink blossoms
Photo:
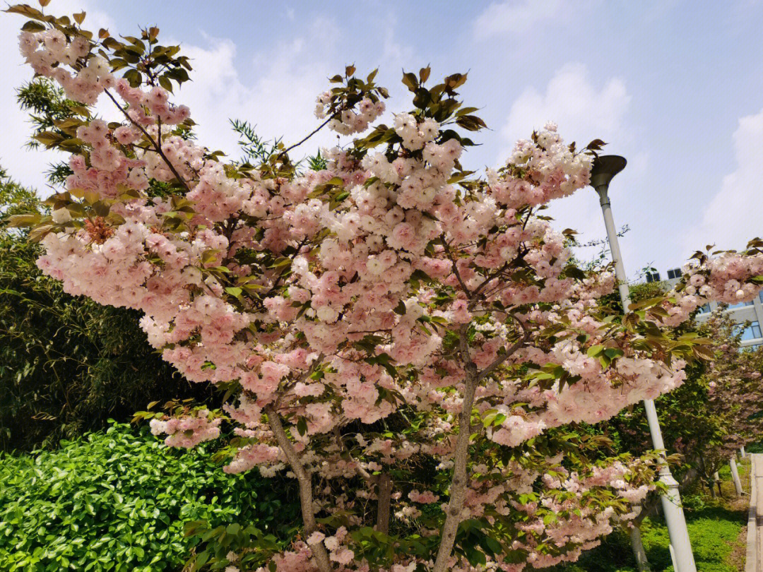
<path fill-rule="evenodd" d="M 523 570 L 574 560 L 632 516 L 649 459 L 602 455 L 575 424 L 680 385 L 703 345 L 672 326 L 757 295 L 759 243 L 698 256 L 618 323 L 597 304 L 613 275 L 575 266 L 570 232 L 542 214 L 588 185 L 602 142 L 577 149 L 548 124 L 478 175 L 460 162 L 485 127 L 456 92 L 465 74 L 427 87 L 429 68 L 405 73 L 413 109 L 371 127 L 388 92 L 348 66 L 301 142 L 225 162 L 171 102 L 191 66 L 156 27 L 123 41 L 86 31 L 84 12 L 8 11 L 30 18 L 34 72 L 81 104 L 37 136 L 70 154 L 52 214 L 15 218 L 43 244 L 38 265 L 70 294 L 140 310 L 167 362 L 227 390 L 224 410 L 156 416 L 167 445 L 231 423 L 225 471 L 298 481 L 301 535 L 227 561 Z M 117 121 L 93 116 L 101 100 Z M 345 138 L 325 169 L 301 169 L 289 153 L 321 128 Z"/>

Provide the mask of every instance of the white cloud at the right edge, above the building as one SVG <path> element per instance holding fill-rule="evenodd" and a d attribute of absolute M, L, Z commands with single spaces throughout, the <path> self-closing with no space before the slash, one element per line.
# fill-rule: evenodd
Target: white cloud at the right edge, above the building
<path fill-rule="evenodd" d="M 763 109 L 739 119 L 733 137 L 736 170 L 723 177 L 720 191 L 703 210 L 702 220 L 684 236 L 685 255 L 708 244 L 743 249 L 749 239 L 763 235 Z"/>

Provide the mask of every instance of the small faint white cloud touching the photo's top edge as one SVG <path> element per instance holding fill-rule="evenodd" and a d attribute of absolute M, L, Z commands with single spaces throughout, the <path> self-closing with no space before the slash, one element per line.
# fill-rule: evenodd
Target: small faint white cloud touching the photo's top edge
<path fill-rule="evenodd" d="M 529 31 L 535 24 L 555 16 L 561 5 L 560 0 L 493 2 L 475 20 L 475 36 L 491 37 Z"/>

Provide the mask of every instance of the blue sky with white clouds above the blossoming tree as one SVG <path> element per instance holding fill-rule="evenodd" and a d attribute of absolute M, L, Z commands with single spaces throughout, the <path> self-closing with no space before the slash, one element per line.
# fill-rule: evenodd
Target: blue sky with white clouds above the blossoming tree
<path fill-rule="evenodd" d="M 93 28 L 130 35 L 156 24 L 182 44 L 195 72 L 177 101 L 215 149 L 235 153 L 227 117 L 298 140 L 316 124 L 315 95 L 346 63 L 378 66 L 390 110 L 403 111 L 401 69 L 431 64 L 433 77 L 469 72 L 463 98 L 491 128 L 468 152 L 472 168 L 498 165 L 514 140 L 546 121 L 567 140 L 600 137 L 608 153 L 629 159 L 610 194 L 616 223 L 630 227 L 622 247 L 632 278 L 649 263 L 664 276 L 708 243 L 741 248 L 763 235 L 761 2 L 53 0 L 48 9 L 79 8 Z M 15 45 L 22 22 L 0 15 L 8 79 L 0 163 L 45 193 L 41 165 L 50 157 L 21 149 L 27 126 L 13 101 L 30 77 Z M 314 145 L 334 141 L 326 134 Z M 551 214 L 584 241 L 604 236 L 592 190 L 556 202 Z"/>

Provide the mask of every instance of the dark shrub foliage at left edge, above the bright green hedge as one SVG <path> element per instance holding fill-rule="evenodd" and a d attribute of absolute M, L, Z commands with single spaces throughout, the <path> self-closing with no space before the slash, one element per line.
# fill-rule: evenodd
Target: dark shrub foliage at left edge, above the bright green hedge
<path fill-rule="evenodd" d="M 54 445 L 151 400 L 211 399 L 153 352 L 136 310 L 69 296 L 42 275 L 40 246 L 4 223 L 44 208 L 0 171 L 0 450 Z"/>

